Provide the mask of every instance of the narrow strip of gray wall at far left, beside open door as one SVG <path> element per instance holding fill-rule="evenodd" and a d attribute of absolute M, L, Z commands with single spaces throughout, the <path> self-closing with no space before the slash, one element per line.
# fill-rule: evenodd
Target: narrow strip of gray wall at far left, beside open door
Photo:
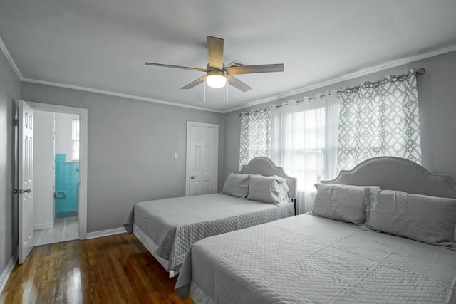
<path fill-rule="evenodd" d="M 0 52 L 0 275 L 18 246 L 14 120 L 21 83 Z"/>

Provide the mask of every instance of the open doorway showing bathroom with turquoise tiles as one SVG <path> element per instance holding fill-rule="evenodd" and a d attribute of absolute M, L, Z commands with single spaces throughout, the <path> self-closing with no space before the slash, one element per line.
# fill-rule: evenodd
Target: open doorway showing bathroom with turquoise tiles
<path fill-rule="evenodd" d="M 33 244 L 79 238 L 78 114 L 35 110 Z"/>

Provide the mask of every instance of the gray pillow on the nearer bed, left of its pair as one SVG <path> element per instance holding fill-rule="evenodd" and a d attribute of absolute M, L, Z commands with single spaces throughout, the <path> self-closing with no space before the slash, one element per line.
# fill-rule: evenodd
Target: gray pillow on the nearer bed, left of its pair
<path fill-rule="evenodd" d="M 317 189 L 312 214 L 353 224 L 364 224 L 370 189 L 378 186 L 315 184 Z"/>

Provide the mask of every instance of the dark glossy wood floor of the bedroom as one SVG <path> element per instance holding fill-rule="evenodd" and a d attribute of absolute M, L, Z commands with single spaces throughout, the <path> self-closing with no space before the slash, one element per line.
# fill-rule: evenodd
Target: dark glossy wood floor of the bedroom
<path fill-rule="evenodd" d="M 0 303 L 192 303 L 133 235 L 36 246 Z"/>

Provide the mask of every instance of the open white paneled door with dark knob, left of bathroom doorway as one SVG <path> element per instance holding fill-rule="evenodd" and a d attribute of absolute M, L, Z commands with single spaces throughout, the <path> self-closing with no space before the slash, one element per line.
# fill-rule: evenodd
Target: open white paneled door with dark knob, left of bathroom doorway
<path fill-rule="evenodd" d="M 19 103 L 19 263 L 33 249 L 33 108 Z"/>

